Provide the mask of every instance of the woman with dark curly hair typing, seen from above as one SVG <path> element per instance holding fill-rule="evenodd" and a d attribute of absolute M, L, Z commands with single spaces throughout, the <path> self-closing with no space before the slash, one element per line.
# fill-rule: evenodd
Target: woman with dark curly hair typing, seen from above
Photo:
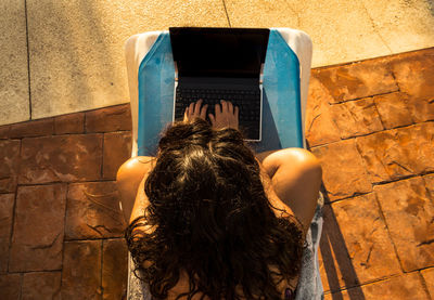
<path fill-rule="evenodd" d="M 209 125 L 192 103 L 156 157 L 119 168 L 137 273 L 155 299 L 293 299 L 321 168 L 301 148 L 255 155 L 220 104 Z"/>

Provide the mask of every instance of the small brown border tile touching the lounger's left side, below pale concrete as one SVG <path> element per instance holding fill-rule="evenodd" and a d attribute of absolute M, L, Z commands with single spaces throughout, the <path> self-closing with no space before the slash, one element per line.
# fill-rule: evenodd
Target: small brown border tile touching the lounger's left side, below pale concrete
<path fill-rule="evenodd" d="M 129 103 L 86 113 L 86 132 L 111 132 L 131 128 Z"/>

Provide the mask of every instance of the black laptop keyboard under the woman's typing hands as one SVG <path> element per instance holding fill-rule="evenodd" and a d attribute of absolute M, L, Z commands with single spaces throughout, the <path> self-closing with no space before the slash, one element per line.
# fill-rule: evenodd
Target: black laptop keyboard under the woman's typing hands
<path fill-rule="evenodd" d="M 248 140 L 259 139 L 260 90 L 217 90 L 186 89 L 177 87 L 175 120 L 182 120 L 186 108 L 192 102 L 202 99 L 202 105 L 208 104 L 207 114 L 215 115 L 215 104 L 220 100 L 230 101 L 239 107 L 239 123 Z M 206 116 L 208 120 L 208 116 Z"/>

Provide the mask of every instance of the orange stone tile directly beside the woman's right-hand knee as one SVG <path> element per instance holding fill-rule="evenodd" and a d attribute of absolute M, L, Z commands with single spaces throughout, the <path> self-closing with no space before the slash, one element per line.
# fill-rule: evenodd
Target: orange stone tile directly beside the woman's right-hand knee
<path fill-rule="evenodd" d="M 372 191 L 354 140 L 314 147 L 311 152 L 320 159 L 322 180 L 330 200 Z"/>

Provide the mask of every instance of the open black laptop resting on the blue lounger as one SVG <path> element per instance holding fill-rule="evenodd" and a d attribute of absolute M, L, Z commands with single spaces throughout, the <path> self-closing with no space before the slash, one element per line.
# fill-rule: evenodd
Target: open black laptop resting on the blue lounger
<path fill-rule="evenodd" d="M 213 115 L 216 103 L 230 101 L 239 107 L 245 140 L 259 142 L 269 29 L 170 27 L 169 34 L 176 71 L 173 120 L 182 120 L 188 105 L 200 99 Z"/>

